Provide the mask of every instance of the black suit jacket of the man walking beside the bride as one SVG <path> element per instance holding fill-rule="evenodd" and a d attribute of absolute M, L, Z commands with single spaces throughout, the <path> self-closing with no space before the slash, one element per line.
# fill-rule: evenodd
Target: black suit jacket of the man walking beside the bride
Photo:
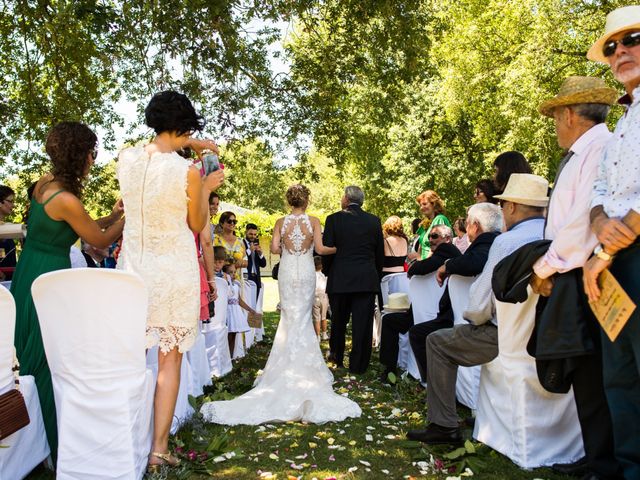
<path fill-rule="evenodd" d="M 322 241 L 338 249 L 322 257 L 327 293 L 380 291 L 384 239 L 378 217 L 351 204 L 327 217 Z"/>

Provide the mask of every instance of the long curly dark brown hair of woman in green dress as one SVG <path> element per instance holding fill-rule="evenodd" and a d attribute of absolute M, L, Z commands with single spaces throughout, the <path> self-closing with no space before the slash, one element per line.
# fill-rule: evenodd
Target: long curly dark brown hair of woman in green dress
<path fill-rule="evenodd" d="M 82 195 L 89 152 L 98 145 L 98 137 L 84 123 L 60 122 L 47 135 L 45 149 L 51 158 L 51 173 L 65 190 Z"/>

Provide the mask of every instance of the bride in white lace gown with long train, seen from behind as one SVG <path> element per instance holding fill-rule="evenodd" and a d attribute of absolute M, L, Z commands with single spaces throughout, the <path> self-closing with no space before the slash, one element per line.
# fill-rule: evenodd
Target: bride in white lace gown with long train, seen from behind
<path fill-rule="evenodd" d="M 269 359 L 252 390 L 233 400 L 202 406 L 200 411 L 209 422 L 324 423 L 362 413 L 355 402 L 334 393 L 333 375 L 322 358 L 311 321 L 316 281 L 313 249 L 324 255 L 336 250 L 322 245 L 320 221 L 305 213 L 309 203 L 307 187 L 289 187 L 287 202 L 292 207 L 291 214 L 278 219 L 271 242 L 271 252 L 281 255 L 281 313 Z"/>

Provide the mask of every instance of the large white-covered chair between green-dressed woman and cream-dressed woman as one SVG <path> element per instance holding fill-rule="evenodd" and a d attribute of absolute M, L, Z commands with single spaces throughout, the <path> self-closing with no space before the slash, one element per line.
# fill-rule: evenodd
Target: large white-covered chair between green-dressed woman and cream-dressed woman
<path fill-rule="evenodd" d="M 58 416 L 57 479 L 132 479 L 151 447 L 148 295 L 137 275 L 60 270 L 31 288 Z M 96 298 L 110 299 L 96 306 Z"/>

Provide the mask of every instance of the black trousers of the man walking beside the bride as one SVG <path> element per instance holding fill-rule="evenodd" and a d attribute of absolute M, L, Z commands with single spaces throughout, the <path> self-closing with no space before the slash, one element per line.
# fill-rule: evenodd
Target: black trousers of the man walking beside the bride
<path fill-rule="evenodd" d="M 353 373 L 364 373 L 369 366 L 375 298 L 374 292 L 329 294 L 329 304 L 331 305 L 330 358 L 337 365 L 342 365 L 345 335 L 351 318 L 353 323 L 351 324 L 349 370 Z"/>

